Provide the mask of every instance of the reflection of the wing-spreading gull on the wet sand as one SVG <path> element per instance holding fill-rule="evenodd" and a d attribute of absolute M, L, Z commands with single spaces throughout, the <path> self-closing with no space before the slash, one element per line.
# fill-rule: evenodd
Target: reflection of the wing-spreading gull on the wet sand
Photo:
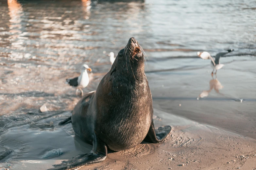
<path fill-rule="evenodd" d="M 235 101 L 240 101 L 241 103 L 243 102 L 243 99 L 234 98 L 234 97 L 231 97 L 229 95 L 219 92 L 219 90 L 223 89 L 224 86 L 222 86 L 220 81 L 217 79 L 217 75 L 215 75 L 215 78 L 212 75 L 212 79 L 210 80 L 209 84 L 210 84 L 210 89 L 204 90 L 203 92 L 201 92 L 201 94 L 198 97 L 196 97 L 197 100 L 199 100 L 200 98 L 207 97 L 209 95 L 209 93 L 214 89 L 215 92 L 217 92 L 218 94 L 220 94 L 222 96 L 225 96 L 225 97 L 230 98 Z"/>

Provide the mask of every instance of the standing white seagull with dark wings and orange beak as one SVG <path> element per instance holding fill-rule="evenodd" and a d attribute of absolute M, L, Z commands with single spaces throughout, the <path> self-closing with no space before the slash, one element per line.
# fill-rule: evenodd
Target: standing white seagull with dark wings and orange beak
<path fill-rule="evenodd" d="M 82 71 L 79 77 L 66 79 L 66 84 L 69 84 L 70 86 L 73 86 L 77 89 L 76 95 L 78 90 L 80 90 L 83 96 L 84 93 L 82 89 L 86 88 L 86 86 L 89 84 L 89 75 L 87 73 L 87 70 L 90 70 L 90 72 L 92 72 L 92 69 L 87 64 L 83 64 Z"/>

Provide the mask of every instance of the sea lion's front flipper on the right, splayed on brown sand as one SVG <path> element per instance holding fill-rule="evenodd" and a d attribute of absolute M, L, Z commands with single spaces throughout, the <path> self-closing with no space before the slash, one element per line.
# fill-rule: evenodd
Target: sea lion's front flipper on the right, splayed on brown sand
<path fill-rule="evenodd" d="M 146 142 L 159 143 L 162 142 L 166 136 L 171 132 L 171 126 L 159 127 L 155 130 L 153 120 L 149 127 L 148 133 L 144 139 Z"/>

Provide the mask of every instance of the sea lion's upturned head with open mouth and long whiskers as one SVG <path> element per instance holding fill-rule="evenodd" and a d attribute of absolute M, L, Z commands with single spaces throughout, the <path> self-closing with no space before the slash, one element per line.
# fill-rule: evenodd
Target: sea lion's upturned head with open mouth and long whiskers
<path fill-rule="evenodd" d="M 138 41 L 131 37 L 126 47 L 118 52 L 111 68 L 111 75 L 139 80 L 144 78 L 144 67 L 143 49 Z"/>

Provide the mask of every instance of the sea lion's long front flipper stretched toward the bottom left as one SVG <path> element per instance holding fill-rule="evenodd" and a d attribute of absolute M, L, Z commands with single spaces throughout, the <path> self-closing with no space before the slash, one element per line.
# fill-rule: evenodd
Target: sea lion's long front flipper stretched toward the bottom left
<path fill-rule="evenodd" d="M 62 163 L 60 164 L 53 165 L 54 168 L 51 168 L 48 170 L 64 170 L 64 169 L 71 169 L 71 168 L 76 168 L 84 165 L 101 163 L 107 158 L 107 153 L 108 153 L 107 146 L 97 137 L 97 142 L 94 142 L 94 148 L 96 148 L 96 153 L 91 151 L 90 153 L 87 153 L 87 154 L 78 155 L 71 160 L 62 161 Z"/>

